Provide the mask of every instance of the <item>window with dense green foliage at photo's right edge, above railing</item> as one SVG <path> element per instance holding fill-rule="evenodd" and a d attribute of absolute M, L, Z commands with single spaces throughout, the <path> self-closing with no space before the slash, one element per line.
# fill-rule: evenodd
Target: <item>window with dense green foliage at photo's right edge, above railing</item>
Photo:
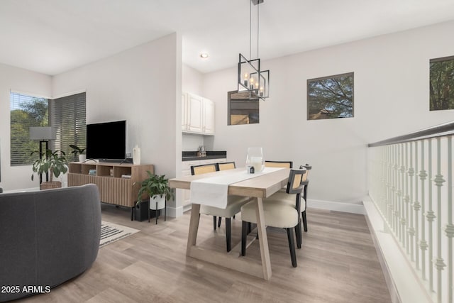
<path fill-rule="evenodd" d="M 429 109 L 454 109 L 454 56 L 430 60 L 429 82 Z"/>

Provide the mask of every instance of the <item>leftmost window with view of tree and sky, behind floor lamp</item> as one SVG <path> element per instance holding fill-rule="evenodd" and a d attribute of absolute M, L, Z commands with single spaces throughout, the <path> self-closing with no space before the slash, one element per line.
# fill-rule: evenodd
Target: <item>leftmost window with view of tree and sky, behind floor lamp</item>
<path fill-rule="evenodd" d="M 38 141 L 31 141 L 31 126 L 49 126 L 48 99 L 11 92 L 11 166 L 31 165 L 39 150 Z"/>

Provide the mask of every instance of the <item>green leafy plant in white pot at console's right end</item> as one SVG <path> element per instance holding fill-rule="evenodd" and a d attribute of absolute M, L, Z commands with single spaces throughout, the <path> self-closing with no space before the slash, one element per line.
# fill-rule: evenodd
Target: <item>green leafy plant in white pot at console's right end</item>
<path fill-rule="evenodd" d="M 169 180 L 165 178 L 165 175 L 155 175 L 149 170 L 147 170 L 147 174 L 148 178 L 142 182 L 136 182 L 140 185 L 136 206 L 140 205 L 143 194 L 146 193 L 150 197 L 150 209 L 155 211 L 164 209 L 166 201 L 175 197 L 174 190 L 169 187 Z"/>

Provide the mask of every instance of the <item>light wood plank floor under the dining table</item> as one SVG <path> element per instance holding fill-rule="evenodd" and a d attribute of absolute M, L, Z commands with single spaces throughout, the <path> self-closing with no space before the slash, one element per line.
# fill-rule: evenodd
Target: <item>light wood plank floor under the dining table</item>
<path fill-rule="evenodd" d="M 21 302 L 391 302 L 365 217 L 308 209 L 309 232 L 292 268 L 287 234 L 267 228 L 272 277 L 257 277 L 187 258 L 189 213 L 131 221 L 128 209 L 102 205 L 102 219 L 140 229 L 99 250 L 79 277 Z M 240 217 L 232 220 L 233 246 Z M 197 243 L 225 249 L 225 228 L 201 216 Z M 258 241 L 246 258 L 260 260 Z"/>

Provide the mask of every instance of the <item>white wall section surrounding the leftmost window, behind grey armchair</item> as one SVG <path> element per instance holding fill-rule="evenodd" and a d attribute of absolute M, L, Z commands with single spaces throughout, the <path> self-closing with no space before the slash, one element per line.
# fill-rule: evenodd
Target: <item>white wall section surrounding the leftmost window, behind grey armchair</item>
<path fill-rule="evenodd" d="M 11 167 L 10 91 L 50 97 L 52 79 L 48 75 L 0 64 L 0 159 L 1 182 L 4 190 L 38 187 L 31 181 L 31 165 Z"/>

